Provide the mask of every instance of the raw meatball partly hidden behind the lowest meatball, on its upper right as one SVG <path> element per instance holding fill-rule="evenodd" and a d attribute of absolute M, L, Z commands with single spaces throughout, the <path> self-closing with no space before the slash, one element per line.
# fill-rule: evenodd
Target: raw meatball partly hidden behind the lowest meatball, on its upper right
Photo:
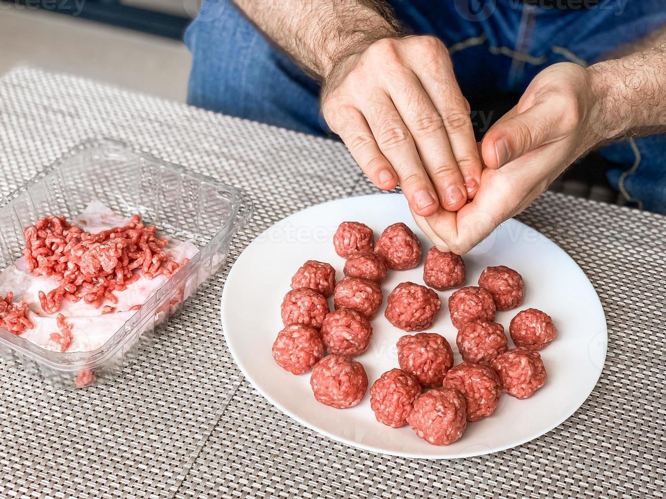
<path fill-rule="evenodd" d="M 452 367 L 444 377 L 444 388 L 458 390 L 467 403 L 467 420 L 487 418 L 500 403 L 500 378 L 487 365 L 464 362 Z"/>

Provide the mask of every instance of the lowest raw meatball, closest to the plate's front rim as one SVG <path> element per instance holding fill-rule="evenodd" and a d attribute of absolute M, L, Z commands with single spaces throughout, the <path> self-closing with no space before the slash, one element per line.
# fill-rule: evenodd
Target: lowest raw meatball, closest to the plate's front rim
<path fill-rule="evenodd" d="M 465 397 L 450 388 L 430 390 L 416 400 L 407 422 L 429 444 L 452 444 L 467 426 Z"/>

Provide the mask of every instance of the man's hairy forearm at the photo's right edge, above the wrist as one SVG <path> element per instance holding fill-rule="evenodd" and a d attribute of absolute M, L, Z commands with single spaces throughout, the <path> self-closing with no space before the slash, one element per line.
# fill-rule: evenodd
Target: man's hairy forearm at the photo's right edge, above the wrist
<path fill-rule="evenodd" d="M 601 140 L 666 131 L 666 33 L 655 47 L 591 66 Z"/>

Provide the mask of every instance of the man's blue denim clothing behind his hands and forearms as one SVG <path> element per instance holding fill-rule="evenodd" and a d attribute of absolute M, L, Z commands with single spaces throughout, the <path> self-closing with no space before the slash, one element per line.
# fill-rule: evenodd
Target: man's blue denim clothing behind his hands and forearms
<path fill-rule="evenodd" d="M 392 0 L 408 31 L 440 37 L 466 94 L 523 92 L 545 67 L 602 60 L 666 25 L 665 0 L 601 0 L 588 9 L 547 9 L 517 0 Z M 185 42 L 194 106 L 324 135 L 318 84 L 256 30 L 230 0 L 206 0 Z M 666 213 L 666 136 L 625 140 L 601 154 L 621 165 L 609 180 Z"/>

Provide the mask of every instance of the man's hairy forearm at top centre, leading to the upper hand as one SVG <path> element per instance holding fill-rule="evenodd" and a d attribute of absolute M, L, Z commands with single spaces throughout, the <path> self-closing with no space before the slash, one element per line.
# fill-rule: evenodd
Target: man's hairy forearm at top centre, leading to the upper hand
<path fill-rule="evenodd" d="M 267 37 L 315 77 L 370 43 L 398 35 L 382 0 L 234 0 Z"/>

